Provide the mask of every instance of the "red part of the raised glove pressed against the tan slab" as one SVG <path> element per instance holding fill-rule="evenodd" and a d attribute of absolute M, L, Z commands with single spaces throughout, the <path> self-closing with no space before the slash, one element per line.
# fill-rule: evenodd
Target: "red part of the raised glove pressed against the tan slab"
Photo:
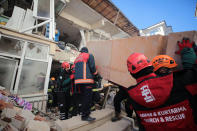
<path fill-rule="evenodd" d="M 179 46 L 179 50 L 176 51 L 175 53 L 176 54 L 181 54 L 181 51 L 184 49 L 184 48 L 192 48 L 194 47 L 194 42 L 190 42 L 189 38 L 183 38 L 182 42 L 180 41 L 177 41 L 177 44 Z"/>

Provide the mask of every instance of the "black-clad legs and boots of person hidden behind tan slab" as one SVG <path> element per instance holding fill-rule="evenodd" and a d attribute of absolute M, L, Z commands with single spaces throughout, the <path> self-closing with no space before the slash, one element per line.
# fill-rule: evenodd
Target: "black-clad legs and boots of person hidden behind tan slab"
<path fill-rule="evenodd" d="M 123 86 L 119 86 L 119 91 L 116 93 L 114 97 L 114 109 L 115 109 L 115 116 L 112 117 L 111 121 L 116 122 L 121 119 L 121 102 L 125 102 L 125 111 L 128 117 L 132 117 L 133 110 L 131 108 L 131 104 L 129 103 L 129 94 L 127 89 Z"/>

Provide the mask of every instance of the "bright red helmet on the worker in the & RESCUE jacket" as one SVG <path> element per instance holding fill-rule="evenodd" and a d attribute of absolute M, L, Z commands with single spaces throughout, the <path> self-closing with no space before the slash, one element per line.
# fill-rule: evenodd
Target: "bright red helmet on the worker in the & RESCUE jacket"
<path fill-rule="evenodd" d="M 132 74 L 136 74 L 148 66 L 152 66 L 152 64 L 144 54 L 133 53 L 127 59 L 127 67 Z"/>

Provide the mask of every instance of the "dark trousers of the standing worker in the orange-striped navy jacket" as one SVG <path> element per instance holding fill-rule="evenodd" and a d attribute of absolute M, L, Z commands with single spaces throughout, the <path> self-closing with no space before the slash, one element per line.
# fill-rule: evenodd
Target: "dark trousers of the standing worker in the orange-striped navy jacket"
<path fill-rule="evenodd" d="M 88 117 L 90 115 L 90 108 L 92 104 L 92 85 L 91 84 L 78 84 L 81 92 L 81 112 L 82 117 Z"/>

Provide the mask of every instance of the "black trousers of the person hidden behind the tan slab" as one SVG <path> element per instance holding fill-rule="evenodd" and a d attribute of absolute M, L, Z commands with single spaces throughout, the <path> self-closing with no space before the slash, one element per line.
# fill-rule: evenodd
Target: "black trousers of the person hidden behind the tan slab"
<path fill-rule="evenodd" d="M 119 91 L 116 93 L 114 97 L 114 108 L 115 112 L 121 112 L 121 102 L 126 99 L 125 102 L 125 111 L 129 117 L 132 116 L 133 110 L 130 109 L 130 102 L 129 102 L 128 93 L 123 89 L 123 87 L 119 87 Z"/>

